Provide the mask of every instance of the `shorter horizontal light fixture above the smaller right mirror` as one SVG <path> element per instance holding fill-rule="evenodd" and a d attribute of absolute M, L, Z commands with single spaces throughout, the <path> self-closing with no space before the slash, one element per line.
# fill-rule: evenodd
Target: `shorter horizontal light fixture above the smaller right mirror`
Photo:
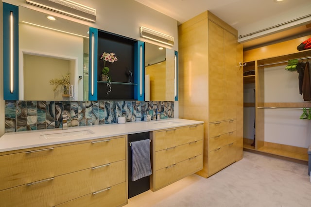
<path fill-rule="evenodd" d="M 146 27 L 140 27 L 140 37 L 154 40 L 169 46 L 174 45 L 174 37 Z"/>

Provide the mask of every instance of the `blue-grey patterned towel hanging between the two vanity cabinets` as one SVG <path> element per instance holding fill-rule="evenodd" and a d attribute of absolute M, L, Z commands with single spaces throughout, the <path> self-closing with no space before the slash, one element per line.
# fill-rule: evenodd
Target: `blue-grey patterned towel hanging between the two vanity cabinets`
<path fill-rule="evenodd" d="M 150 140 L 132 142 L 132 180 L 151 175 Z"/>

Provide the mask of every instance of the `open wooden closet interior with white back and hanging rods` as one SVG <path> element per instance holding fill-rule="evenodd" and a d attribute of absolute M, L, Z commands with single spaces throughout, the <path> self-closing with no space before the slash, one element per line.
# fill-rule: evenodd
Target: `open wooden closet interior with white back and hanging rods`
<path fill-rule="evenodd" d="M 299 73 L 288 66 L 311 63 L 311 49 L 296 49 L 308 38 L 244 51 L 244 150 L 308 161 L 311 102 L 299 94 Z"/>

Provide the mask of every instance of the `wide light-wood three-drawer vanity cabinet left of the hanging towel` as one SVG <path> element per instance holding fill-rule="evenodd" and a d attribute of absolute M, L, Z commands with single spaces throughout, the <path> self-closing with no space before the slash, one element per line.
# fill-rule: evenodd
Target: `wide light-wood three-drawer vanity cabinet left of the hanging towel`
<path fill-rule="evenodd" d="M 0 206 L 127 203 L 126 136 L 0 154 Z"/>

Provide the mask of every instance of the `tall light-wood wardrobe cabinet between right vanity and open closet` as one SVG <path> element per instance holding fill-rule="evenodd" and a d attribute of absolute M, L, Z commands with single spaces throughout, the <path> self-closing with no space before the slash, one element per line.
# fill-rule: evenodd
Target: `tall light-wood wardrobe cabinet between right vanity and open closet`
<path fill-rule="evenodd" d="M 178 27 L 179 117 L 204 121 L 208 177 L 242 159 L 243 62 L 238 31 L 206 11 Z"/>

